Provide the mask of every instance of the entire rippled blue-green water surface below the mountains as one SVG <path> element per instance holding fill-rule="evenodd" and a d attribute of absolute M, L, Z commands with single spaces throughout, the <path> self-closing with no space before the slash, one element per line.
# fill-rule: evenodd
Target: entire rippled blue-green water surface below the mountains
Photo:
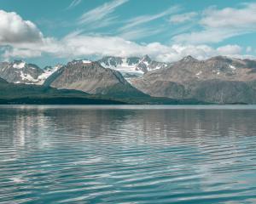
<path fill-rule="evenodd" d="M 256 203 L 256 106 L 0 106 L 0 203 Z"/>

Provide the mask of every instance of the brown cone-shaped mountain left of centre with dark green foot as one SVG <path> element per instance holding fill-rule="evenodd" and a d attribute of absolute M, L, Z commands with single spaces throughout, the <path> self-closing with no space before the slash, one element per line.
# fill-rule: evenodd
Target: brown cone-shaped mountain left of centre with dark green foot
<path fill-rule="evenodd" d="M 51 75 L 45 86 L 102 94 L 111 97 L 145 96 L 119 73 L 89 60 L 73 60 Z"/>

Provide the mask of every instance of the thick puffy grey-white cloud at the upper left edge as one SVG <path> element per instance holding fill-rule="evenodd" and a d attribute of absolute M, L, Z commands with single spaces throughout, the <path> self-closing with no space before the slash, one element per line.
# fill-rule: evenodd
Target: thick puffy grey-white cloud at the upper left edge
<path fill-rule="evenodd" d="M 0 45 L 33 43 L 42 41 L 43 34 L 29 20 L 23 20 L 15 12 L 0 10 Z"/>

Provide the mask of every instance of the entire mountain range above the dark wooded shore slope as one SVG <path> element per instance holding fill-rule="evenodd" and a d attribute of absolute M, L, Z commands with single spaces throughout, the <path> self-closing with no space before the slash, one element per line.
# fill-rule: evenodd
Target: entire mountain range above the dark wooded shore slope
<path fill-rule="evenodd" d="M 77 90 L 79 94 L 128 103 L 256 104 L 253 59 L 217 56 L 198 60 L 187 56 L 163 63 L 148 55 L 108 56 L 97 61 L 74 59 L 67 65 L 44 69 L 15 60 L 0 63 L 0 77 L 13 86 L 34 84 L 55 91 Z"/>

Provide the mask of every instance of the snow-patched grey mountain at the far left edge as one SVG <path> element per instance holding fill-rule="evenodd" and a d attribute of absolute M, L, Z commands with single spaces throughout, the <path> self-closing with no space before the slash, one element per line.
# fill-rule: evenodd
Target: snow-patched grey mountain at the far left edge
<path fill-rule="evenodd" d="M 7 82 L 41 85 L 60 67 L 61 65 L 56 65 L 41 69 L 38 65 L 28 64 L 22 60 L 15 60 L 11 63 L 1 62 L 0 77 Z"/>

